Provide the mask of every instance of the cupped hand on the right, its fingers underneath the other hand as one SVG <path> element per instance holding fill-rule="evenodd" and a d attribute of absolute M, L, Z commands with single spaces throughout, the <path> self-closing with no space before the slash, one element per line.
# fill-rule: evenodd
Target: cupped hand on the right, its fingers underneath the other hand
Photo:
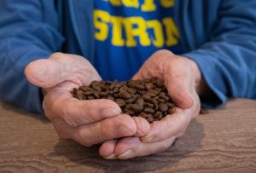
<path fill-rule="evenodd" d="M 194 61 L 160 50 L 146 61 L 133 79 L 159 78 L 164 82 L 177 110 L 160 121 L 150 124 L 146 136 L 124 137 L 106 141 L 100 154 L 107 159 L 131 159 L 158 153 L 172 146 L 185 132 L 189 122 L 200 111 L 197 92 L 201 89 L 201 72 Z"/>

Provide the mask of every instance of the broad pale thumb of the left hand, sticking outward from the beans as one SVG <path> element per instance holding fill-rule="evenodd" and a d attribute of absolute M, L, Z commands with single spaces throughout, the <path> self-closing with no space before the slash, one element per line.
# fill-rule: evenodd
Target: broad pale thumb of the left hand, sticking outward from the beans
<path fill-rule="evenodd" d="M 53 87 L 65 80 L 81 85 L 101 79 L 89 61 L 78 55 L 62 53 L 55 53 L 49 59 L 32 61 L 26 66 L 25 75 L 30 83 L 42 88 Z"/>

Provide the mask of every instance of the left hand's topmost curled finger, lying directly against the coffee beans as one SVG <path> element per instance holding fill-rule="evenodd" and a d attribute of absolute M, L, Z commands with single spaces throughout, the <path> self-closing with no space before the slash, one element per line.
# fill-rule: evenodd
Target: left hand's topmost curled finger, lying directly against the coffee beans
<path fill-rule="evenodd" d="M 45 114 L 52 119 L 49 110 L 55 112 L 58 118 L 64 119 L 72 127 L 90 124 L 104 118 L 119 115 L 120 107 L 113 101 L 97 99 L 79 101 L 67 90 L 54 89 L 44 96 Z"/>

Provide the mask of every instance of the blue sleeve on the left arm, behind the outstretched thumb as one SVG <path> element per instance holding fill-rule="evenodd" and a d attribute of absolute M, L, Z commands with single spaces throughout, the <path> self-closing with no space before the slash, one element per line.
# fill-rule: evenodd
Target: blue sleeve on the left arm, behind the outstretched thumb
<path fill-rule="evenodd" d="M 29 84 L 26 65 L 61 48 L 55 1 L 0 1 L 0 99 L 43 113 L 40 89 Z"/>

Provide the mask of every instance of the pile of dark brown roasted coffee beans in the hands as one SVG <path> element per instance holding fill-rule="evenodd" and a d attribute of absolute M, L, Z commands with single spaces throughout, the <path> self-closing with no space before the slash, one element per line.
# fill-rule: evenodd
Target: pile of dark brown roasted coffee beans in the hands
<path fill-rule="evenodd" d="M 157 78 L 125 82 L 93 81 L 89 86 L 73 89 L 73 96 L 79 100 L 115 101 L 122 113 L 146 118 L 149 123 L 175 112 L 165 85 Z"/>

